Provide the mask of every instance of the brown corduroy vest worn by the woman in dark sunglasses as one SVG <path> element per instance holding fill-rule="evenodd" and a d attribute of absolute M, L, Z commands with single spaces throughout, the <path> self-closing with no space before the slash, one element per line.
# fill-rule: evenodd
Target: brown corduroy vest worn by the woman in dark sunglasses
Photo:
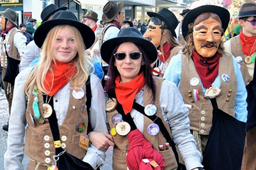
<path fill-rule="evenodd" d="M 144 95 L 143 95 L 143 106 L 146 106 L 148 104 L 154 104 L 157 107 L 157 113 L 156 116 L 158 116 L 160 119 L 162 119 L 164 126 L 168 130 L 169 134 L 171 135 L 170 131 L 170 125 L 166 123 L 162 117 L 161 109 L 160 109 L 160 90 L 162 86 L 162 78 L 154 77 L 154 81 L 156 83 L 156 101 L 152 103 L 152 92 L 144 86 Z M 107 112 L 107 120 L 110 125 L 110 130 L 114 128 L 114 124 L 111 121 L 111 118 L 114 114 L 118 113 L 116 110 L 112 112 Z M 143 135 L 148 142 L 150 142 L 155 150 L 157 150 L 162 156 L 164 157 L 165 167 L 164 170 L 174 170 L 178 167 L 174 152 L 172 151 L 172 148 L 166 150 L 164 146 L 164 151 L 159 151 L 158 146 L 160 144 L 165 144 L 166 139 L 164 138 L 163 134 L 159 132 L 156 136 L 150 136 L 147 132 L 147 128 L 150 124 L 153 122 L 144 116 L 144 128 L 143 128 Z M 119 134 L 116 134 L 113 136 L 115 146 L 113 150 L 113 163 L 112 168 L 113 170 L 127 170 L 126 165 L 126 153 L 129 147 L 128 138 L 126 136 L 120 136 Z"/>

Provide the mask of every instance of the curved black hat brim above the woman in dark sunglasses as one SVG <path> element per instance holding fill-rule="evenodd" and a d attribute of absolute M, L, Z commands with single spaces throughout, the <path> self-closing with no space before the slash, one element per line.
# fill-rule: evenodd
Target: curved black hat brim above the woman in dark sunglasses
<path fill-rule="evenodd" d="M 100 55 L 102 59 L 109 64 L 114 49 L 124 42 L 132 42 L 140 45 L 146 51 L 148 58 L 150 59 L 150 63 L 154 63 L 154 61 L 156 61 L 158 53 L 154 44 L 148 40 L 135 36 L 116 37 L 102 43 L 102 46 L 100 48 Z"/>

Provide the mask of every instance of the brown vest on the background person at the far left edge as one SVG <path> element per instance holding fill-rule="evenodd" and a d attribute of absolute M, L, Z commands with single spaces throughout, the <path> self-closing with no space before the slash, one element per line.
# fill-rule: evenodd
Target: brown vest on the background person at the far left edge
<path fill-rule="evenodd" d="M 12 32 L 10 33 L 8 42 L 6 42 L 5 45 L 6 45 L 6 49 L 7 49 L 7 45 L 10 44 L 10 51 L 7 52 L 9 57 L 12 57 L 16 60 L 20 60 L 20 53 L 14 45 L 14 36 L 17 32 L 21 32 L 21 31 L 19 31 L 17 28 L 14 28 L 12 30 Z M 2 38 L 2 41 L 1 41 L 1 49 L 2 49 L 2 51 L 1 51 L 1 66 L 4 68 L 7 68 L 7 65 L 8 65 L 7 64 L 7 55 L 6 55 L 6 52 L 3 51 L 3 48 L 4 48 L 4 38 Z"/>

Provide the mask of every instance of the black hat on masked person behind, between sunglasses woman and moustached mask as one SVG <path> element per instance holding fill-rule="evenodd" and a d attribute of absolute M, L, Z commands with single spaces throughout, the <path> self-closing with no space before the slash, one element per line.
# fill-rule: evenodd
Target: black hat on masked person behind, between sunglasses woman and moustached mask
<path fill-rule="evenodd" d="M 179 22 L 178 22 L 176 16 L 174 15 L 174 13 L 172 13 L 170 10 L 168 10 L 166 8 L 163 8 L 158 13 L 147 12 L 147 14 L 149 17 L 155 16 L 155 17 L 159 18 L 161 21 L 163 21 L 170 29 L 172 36 L 177 38 L 175 29 L 178 26 Z"/>

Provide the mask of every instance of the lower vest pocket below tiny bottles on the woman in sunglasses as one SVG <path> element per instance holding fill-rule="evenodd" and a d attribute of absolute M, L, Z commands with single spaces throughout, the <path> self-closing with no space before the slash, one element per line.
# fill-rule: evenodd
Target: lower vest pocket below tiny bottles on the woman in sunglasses
<path fill-rule="evenodd" d="M 159 153 L 162 154 L 162 156 L 164 157 L 164 170 L 174 170 L 178 167 L 172 148 L 164 151 L 159 151 Z"/>

